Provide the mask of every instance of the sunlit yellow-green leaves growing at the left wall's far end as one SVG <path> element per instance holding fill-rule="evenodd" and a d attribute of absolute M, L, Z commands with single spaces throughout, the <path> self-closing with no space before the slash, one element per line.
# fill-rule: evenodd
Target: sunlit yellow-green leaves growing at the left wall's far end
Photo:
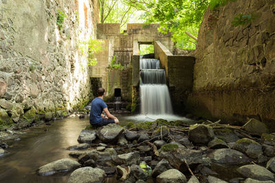
<path fill-rule="evenodd" d="M 83 54 L 88 57 L 88 64 L 94 66 L 98 64 L 96 58 L 93 58 L 96 53 L 102 50 L 104 40 L 89 39 L 88 41 L 80 41 L 79 48 Z"/>

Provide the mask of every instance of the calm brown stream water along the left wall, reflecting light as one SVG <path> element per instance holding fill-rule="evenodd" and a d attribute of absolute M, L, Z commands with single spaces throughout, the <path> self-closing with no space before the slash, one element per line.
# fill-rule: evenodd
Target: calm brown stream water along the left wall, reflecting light
<path fill-rule="evenodd" d="M 39 176 L 36 170 L 54 160 L 69 158 L 67 147 L 78 144 L 88 120 L 69 117 L 52 125 L 31 127 L 21 141 L 8 141 L 10 154 L 0 158 L 0 182 L 66 182 L 69 175 Z"/>

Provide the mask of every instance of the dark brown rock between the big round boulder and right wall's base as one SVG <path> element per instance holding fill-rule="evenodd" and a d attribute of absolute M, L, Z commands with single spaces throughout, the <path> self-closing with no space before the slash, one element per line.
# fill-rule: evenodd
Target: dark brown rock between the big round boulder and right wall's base
<path fill-rule="evenodd" d="M 226 143 L 234 143 L 239 140 L 236 133 L 228 128 L 214 129 L 214 134 L 217 138 L 225 141 Z"/>

